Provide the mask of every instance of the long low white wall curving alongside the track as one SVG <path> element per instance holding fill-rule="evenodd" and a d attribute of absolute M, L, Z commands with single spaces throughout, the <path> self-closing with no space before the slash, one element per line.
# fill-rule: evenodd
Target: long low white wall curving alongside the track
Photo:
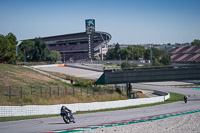
<path fill-rule="evenodd" d="M 141 104 L 150 104 L 150 103 L 162 102 L 164 100 L 167 100 L 168 98 L 170 98 L 169 93 L 166 96 L 108 101 L 108 102 L 75 103 L 75 104 L 59 104 L 59 105 L 0 106 L 0 117 L 59 114 L 60 108 L 63 105 L 71 109 L 73 112 L 76 112 L 76 111 L 89 111 L 89 110 L 135 106 Z"/>

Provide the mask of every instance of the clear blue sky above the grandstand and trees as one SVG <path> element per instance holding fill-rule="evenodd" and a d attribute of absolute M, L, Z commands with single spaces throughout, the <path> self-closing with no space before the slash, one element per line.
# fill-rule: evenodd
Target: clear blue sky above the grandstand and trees
<path fill-rule="evenodd" d="M 200 0 L 0 0 L 0 34 L 17 40 L 84 32 L 85 19 L 109 44 L 200 39 Z"/>

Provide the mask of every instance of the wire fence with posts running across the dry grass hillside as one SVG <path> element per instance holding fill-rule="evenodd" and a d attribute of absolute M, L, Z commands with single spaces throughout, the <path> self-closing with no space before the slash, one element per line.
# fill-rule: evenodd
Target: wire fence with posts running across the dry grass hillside
<path fill-rule="evenodd" d="M 117 87 L 122 92 L 125 88 Z M 8 97 L 8 99 L 21 98 L 23 99 L 24 96 L 39 96 L 39 97 L 52 97 L 52 96 L 64 96 L 64 95 L 71 95 L 71 96 L 82 96 L 82 95 L 105 95 L 105 94 L 113 94 L 116 92 L 116 87 L 92 87 L 92 88 L 74 88 L 69 86 L 51 86 L 47 88 L 40 88 L 40 87 L 12 87 L 6 86 L 1 88 L 0 95 L 2 97 Z"/>

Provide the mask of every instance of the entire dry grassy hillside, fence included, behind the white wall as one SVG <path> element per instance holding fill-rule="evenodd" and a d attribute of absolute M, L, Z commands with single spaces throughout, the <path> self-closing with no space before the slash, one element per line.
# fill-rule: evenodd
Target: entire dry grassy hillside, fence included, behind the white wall
<path fill-rule="evenodd" d="M 126 99 L 126 95 L 116 93 L 114 88 L 76 87 L 23 66 L 0 64 L 0 105 L 49 105 L 119 99 Z"/>

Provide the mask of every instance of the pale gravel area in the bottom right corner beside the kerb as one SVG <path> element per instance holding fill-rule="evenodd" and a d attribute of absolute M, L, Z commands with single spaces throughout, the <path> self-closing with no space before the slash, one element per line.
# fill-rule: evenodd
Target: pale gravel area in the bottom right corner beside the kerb
<path fill-rule="evenodd" d="M 200 133 L 200 113 L 78 133 Z"/>

